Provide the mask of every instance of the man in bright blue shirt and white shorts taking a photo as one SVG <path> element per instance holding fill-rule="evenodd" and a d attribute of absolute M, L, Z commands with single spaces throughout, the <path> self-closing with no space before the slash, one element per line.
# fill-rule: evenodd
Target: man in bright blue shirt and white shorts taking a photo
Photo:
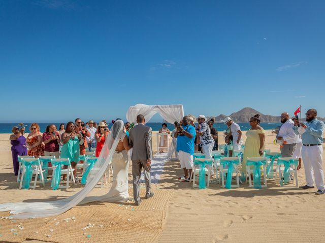
<path fill-rule="evenodd" d="M 195 136 L 195 128 L 189 124 L 189 117 L 185 115 L 182 126 L 178 127 L 174 134 L 177 138 L 176 150 L 181 168 L 184 170 L 185 182 L 189 181 L 189 175 L 192 173 Z"/>

